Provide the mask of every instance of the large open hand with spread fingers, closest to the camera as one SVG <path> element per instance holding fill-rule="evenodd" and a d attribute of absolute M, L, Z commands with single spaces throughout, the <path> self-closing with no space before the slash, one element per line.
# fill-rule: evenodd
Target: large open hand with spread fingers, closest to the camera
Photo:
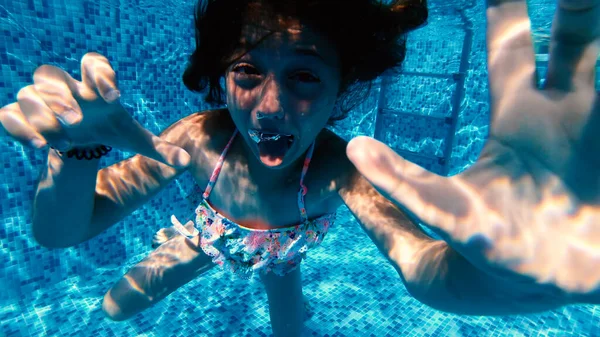
<path fill-rule="evenodd" d="M 491 127 L 472 167 L 440 177 L 367 137 L 348 155 L 479 269 L 598 301 L 600 0 L 559 1 L 542 89 L 525 1 L 488 0 L 487 18 Z"/>

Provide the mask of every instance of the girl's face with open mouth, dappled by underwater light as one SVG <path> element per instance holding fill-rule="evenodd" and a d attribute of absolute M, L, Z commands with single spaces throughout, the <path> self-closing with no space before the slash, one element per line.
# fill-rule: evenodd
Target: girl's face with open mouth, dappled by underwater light
<path fill-rule="evenodd" d="M 268 34 L 245 26 L 242 45 Z M 250 151 L 264 166 L 290 166 L 331 117 L 340 87 L 339 56 L 299 24 L 270 34 L 250 52 L 236 51 L 226 70 L 227 105 Z"/>

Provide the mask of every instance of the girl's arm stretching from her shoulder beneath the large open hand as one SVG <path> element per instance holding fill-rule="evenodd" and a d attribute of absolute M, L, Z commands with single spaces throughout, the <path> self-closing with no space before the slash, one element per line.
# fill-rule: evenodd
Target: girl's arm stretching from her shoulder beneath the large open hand
<path fill-rule="evenodd" d="M 466 315 L 540 312 L 570 301 L 530 282 L 507 283 L 477 269 L 445 241 L 427 236 L 349 163 L 343 202 L 392 264 L 408 292 L 437 310 Z"/>

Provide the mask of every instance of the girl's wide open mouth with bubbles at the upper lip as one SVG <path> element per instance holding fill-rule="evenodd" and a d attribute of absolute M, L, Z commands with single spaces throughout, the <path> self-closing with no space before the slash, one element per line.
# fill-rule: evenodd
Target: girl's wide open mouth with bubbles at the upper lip
<path fill-rule="evenodd" d="M 294 143 L 294 135 L 248 130 L 248 135 L 257 144 L 260 160 L 267 166 L 278 166 Z"/>

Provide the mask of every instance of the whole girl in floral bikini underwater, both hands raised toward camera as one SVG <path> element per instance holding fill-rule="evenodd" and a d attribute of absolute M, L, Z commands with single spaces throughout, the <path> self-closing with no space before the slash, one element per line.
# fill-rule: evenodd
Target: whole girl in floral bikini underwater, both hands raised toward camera
<path fill-rule="evenodd" d="M 113 319 L 139 312 L 219 264 L 244 277 L 259 272 L 275 336 L 300 335 L 299 266 L 307 250 L 323 240 L 342 203 L 408 291 L 434 308 L 497 315 L 598 303 L 600 276 L 586 266 L 597 254 L 590 247 L 600 245 L 597 236 L 586 235 L 593 229 L 582 231 L 577 222 L 600 219 L 600 166 L 578 155 L 599 143 L 597 132 L 580 127 L 588 120 L 598 124 L 597 97 L 588 90 L 597 34 L 580 29 L 598 27 L 598 8 L 593 1 L 560 6 L 554 50 L 568 38 L 581 48 L 558 53 L 541 95 L 532 87 L 529 30 L 522 29 L 528 22 L 525 2 L 490 2 L 490 142 L 476 165 L 451 179 L 408 165 L 376 141 L 361 137 L 346 144 L 324 129 L 343 116 L 338 112 L 345 111 L 353 84 L 368 83 L 401 62 L 402 37 L 425 21 L 424 1 L 389 6 L 367 0 L 352 6 L 327 0 L 200 2 L 197 50 L 184 82 L 192 90 L 208 86 L 209 101 L 224 94 L 226 109 L 193 114 L 160 138 L 153 136 L 118 103 L 108 60 L 89 53 L 82 60 L 82 82 L 55 67 L 38 68 L 34 85 L 19 92 L 19 102 L 0 110 L 0 122 L 24 144 L 55 148 L 49 151 L 33 217 L 35 238 L 48 247 L 72 246 L 99 234 L 185 170 L 206 186 L 196 228 L 172 219 L 182 235 L 159 240 L 164 243 L 106 294 L 103 308 Z M 557 67 L 561 62 L 566 66 Z M 575 67 L 575 62 L 582 63 Z M 576 68 L 577 73 L 564 70 Z M 570 83 L 578 84 L 575 94 L 545 96 L 570 93 Z M 523 118 L 523 111 L 544 109 L 556 111 L 555 119 L 548 122 L 535 112 Z M 567 123 L 572 121 L 567 117 L 582 122 Z M 519 123 L 529 128 L 510 128 Z M 541 137 L 548 130 L 567 130 L 570 137 Z M 98 172 L 97 157 L 109 146 L 139 154 Z M 562 149 L 563 155 L 547 152 L 532 159 L 532 152 L 546 146 Z M 579 167 L 587 170 L 581 173 Z M 575 185 L 576 178 L 587 183 Z M 548 187 L 554 194 L 546 193 Z M 495 198 L 496 192 L 503 197 Z M 571 199 L 558 203 L 549 217 L 547 208 L 539 207 L 544 198 L 554 204 Z M 584 216 L 573 216 L 580 211 Z M 445 241 L 426 236 L 405 214 L 424 220 Z M 560 235 L 550 240 L 540 223 L 551 223 L 551 233 L 560 234 L 554 232 L 560 228 L 565 238 L 580 235 L 589 241 L 587 251 L 578 251 L 578 263 L 557 262 L 554 278 L 546 273 L 548 264 L 531 263 L 537 256 L 526 248 L 551 245 L 562 251 L 572 243 Z"/>

